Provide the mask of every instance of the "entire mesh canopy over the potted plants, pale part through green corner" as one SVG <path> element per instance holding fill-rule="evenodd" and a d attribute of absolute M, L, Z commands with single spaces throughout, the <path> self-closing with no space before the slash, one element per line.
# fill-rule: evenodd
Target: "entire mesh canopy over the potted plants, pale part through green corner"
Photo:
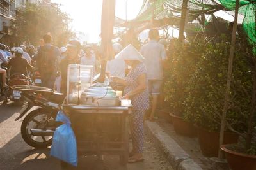
<path fill-rule="evenodd" d="M 202 14 L 212 15 L 216 11 L 234 11 L 236 0 L 189 0 L 188 22 L 195 20 Z M 179 26 L 182 0 L 144 0 L 138 16 L 127 22 L 118 19 L 117 27 L 161 27 L 164 25 Z M 243 30 L 246 32 L 251 45 L 256 44 L 255 32 L 256 0 L 240 0 L 239 14 L 244 15 Z M 138 31 L 136 31 L 138 32 Z M 256 48 L 254 47 L 256 53 Z"/>

